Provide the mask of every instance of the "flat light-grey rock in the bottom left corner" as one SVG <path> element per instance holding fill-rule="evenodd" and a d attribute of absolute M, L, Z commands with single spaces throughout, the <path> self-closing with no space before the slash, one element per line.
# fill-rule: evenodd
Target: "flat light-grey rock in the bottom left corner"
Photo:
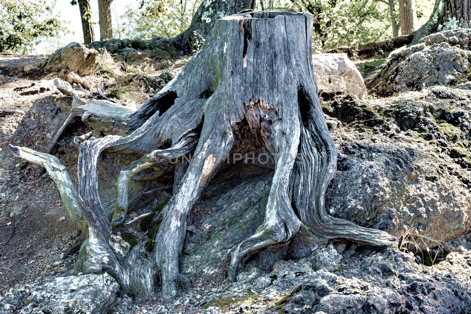
<path fill-rule="evenodd" d="M 0 314 L 12 310 L 20 314 L 102 313 L 113 303 L 119 288 L 107 273 L 57 277 L 37 286 L 11 289 L 0 299 Z"/>

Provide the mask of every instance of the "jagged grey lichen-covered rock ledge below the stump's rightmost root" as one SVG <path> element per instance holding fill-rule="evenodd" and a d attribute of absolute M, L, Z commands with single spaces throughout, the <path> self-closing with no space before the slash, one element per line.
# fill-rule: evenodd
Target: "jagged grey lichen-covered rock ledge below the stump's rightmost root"
<path fill-rule="evenodd" d="M 269 272 L 252 267 L 236 282 L 205 291 L 202 299 L 211 309 L 207 313 L 465 314 L 471 310 L 471 290 L 454 274 L 430 272 L 412 255 L 396 249 L 348 245 L 333 272 L 317 270 L 312 262 L 316 252 L 296 261 L 279 261 Z M 269 281 L 260 285 L 262 278 Z M 182 296 L 174 303 L 188 304 L 187 299 Z"/>

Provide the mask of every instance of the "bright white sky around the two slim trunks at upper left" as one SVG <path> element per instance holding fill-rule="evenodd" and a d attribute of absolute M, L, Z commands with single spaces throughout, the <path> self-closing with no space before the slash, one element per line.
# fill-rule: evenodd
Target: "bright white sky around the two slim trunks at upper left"
<path fill-rule="evenodd" d="M 53 5 L 54 13 L 60 16 L 67 24 L 68 32 L 65 32 L 59 42 L 44 41 L 35 47 L 36 54 L 50 53 L 59 46 L 64 46 L 69 42 L 83 42 L 82 24 L 80 20 L 79 6 L 72 6 L 70 0 L 47 0 L 49 5 Z M 98 1 L 90 0 L 93 11 L 93 22 L 95 22 L 95 40 L 100 40 L 100 29 L 98 27 Z M 127 6 L 138 8 L 138 0 L 114 0 L 111 6 L 111 15 L 113 16 L 113 25 L 118 24 L 119 16 L 127 10 Z"/>

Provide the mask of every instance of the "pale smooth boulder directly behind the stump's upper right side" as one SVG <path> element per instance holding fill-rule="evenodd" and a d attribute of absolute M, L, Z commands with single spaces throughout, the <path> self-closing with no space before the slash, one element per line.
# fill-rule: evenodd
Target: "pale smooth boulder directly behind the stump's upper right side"
<path fill-rule="evenodd" d="M 365 83 L 360 72 L 345 53 L 312 55 L 312 66 L 319 92 L 357 95 L 363 99 Z"/>

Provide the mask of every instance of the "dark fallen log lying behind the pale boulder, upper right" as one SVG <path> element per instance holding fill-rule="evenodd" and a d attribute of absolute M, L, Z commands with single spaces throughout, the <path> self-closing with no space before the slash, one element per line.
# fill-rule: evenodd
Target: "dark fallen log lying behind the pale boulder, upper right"
<path fill-rule="evenodd" d="M 355 44 L 325 51 L 326 53 L 346 53 L 349 58 L 374 56 L 380 50 L 393 50 L 412 42 L 415 32 L 410 34 L 393 37 L 383 41 L 372 41 L 365 44 Z"/>

